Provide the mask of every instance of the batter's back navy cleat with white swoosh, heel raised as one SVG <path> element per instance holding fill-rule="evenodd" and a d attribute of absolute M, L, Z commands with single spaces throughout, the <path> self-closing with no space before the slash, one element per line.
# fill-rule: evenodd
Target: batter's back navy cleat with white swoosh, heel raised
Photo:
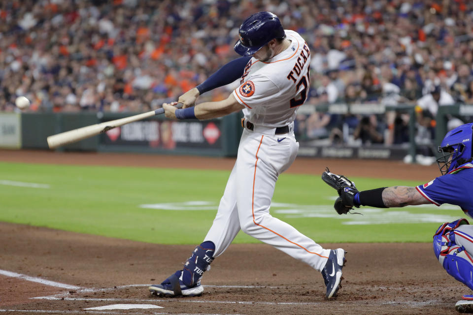
<path fill-rule="evenodd" d="M 322 269 L 322 277 L 324 277 L 327 286 L 326 299 L 337 296 L 338 289 L 341 287 L 341 268 L 345 265 L 345 251 L 341 248 L 331 250 L 329 259 Z"/>

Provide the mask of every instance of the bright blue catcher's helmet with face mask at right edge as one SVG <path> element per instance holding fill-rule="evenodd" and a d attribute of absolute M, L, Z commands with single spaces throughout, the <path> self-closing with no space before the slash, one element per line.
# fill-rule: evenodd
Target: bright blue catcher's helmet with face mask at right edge
<path fill-rule="evenodd" d="M 448 131 L 443 138 L 439 146 L 442 156 L 437 159 L 442 175 L 473 159 L 472 127 L 473 123 L 458 126 Z"/>

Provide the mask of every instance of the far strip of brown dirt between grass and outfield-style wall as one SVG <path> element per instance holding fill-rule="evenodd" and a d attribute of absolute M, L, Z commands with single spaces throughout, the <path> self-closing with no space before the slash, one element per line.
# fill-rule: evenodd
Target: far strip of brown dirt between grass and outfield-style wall
<path fill-rule="evenodd" d="M 138 167 L 180 167 L 231 170 L 235 158 L 166 156 L 127 153 L 75 153 L 32 150 L 1 150 L 0 161 L 47 164 L 80 164 Z M 437 166 L 405 164 L 388 160 L 347 160 L 337 158 L 296 158 L 288 173 L 322 175 L 325 167 L 345 176 L 393 178 L 428 182 L 440 176 Z"/>

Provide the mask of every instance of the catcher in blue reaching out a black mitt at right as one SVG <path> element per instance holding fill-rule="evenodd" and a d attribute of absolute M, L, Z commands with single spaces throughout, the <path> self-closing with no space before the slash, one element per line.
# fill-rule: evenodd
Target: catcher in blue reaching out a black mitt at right
<path fill-rule="evenodd" d="M 337 189 L 339 197 L 335 201 L 335 210 L 338 214 L 346 214 L 360 206 L 391 208 L 449 203 L 460 206 L 473 218 L 472 127 L 473 123 L 465 124 L 445 135 L 439 146 L 441 157 L 437 159 L 442 176 L 417 187 L 394 186 L 358 191 L 352 181 L 331 173 L 327 168 L 322 179 Z M 473 225 L 469 225 L 466 219 L 440 225 L 434 235 L 434 252 L 449 275 L 473 290 Z M 473 295 L 464 295 L 463 299 L 473 301 Z M 473 302 L 463 303 L 462 308 L 473 312 Z"/>

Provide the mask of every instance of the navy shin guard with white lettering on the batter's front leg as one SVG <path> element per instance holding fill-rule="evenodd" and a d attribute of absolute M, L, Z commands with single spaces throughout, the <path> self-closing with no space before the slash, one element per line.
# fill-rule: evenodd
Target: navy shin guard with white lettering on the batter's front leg
<path fill-rule="evenodd" d="M 215 244 L 210 241 L 203 242 L 196 247 L 192 256 L 184 263 L 182 282 L 185 285 L 192 286 L 201 280 L 203 272 L 210 269 L 214 252 Z"/>

